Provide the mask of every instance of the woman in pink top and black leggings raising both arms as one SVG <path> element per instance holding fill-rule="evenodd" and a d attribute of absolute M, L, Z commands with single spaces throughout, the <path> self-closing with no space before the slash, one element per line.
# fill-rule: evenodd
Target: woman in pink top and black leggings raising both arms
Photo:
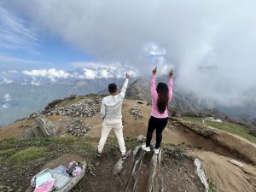
<path fill-rule="evenodd" d="M 168 122 L 168 103 L 172 99 L 172 78 L 173 71 L 169 73 L 168 85 L 165 83 L 157 84 L 155 87 L 156 67 L 153 70 L 151 78 L 150 90 L 152 96 L 151 117 L 148 121 L 148 132 L 146 144 L 143 144 L 145 151 L 150 151 L 150 142 L 154 130 L 156 130 L 156 143 L 154 146 L 154 153 L 159 154 L 160 143 L 162 141 L 162 131 L 166 128 Z"/>

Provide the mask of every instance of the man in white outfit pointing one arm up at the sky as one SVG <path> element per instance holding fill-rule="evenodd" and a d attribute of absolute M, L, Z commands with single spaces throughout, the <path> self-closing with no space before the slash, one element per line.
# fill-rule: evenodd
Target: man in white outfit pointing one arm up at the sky
<path fill-rule="evenodd" d="M 101 157 L 108 134 L 112 129 L 118 139 L 122 159 L 125 160 L 128 156 L 128 154 L 126 154 L 125 140 L 123 137 L 122 104 L 129 79 L 130 75 L 126 73 L 125 84 L 120 93 L 118 93 L 116 84 L 108 84 L 110 95 L 102 99 L 101 116 L 104 120 L 102 123 L 102 137 L 98 145 L 98 153 L 96 154 L 97 157 Z"/>

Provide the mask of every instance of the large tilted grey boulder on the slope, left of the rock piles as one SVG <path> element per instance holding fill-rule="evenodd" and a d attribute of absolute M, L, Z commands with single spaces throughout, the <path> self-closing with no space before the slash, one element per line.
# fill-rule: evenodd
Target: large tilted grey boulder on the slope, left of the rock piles
<path fill-rule="evenodd" d="M 43 131 L 44 137 L 55 137 L 57 128 L 54 123 L 43 118 L 35 119 L 35 123 L 38 125 L 39 129 Z"/>

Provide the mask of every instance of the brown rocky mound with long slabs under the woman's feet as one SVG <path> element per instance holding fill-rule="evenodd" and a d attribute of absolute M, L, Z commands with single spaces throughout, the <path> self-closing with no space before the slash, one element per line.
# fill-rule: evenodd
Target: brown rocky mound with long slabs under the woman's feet
<path fill-rule="evenodd" d="M 195 157 L 182 154 L 177 148 L 165 148 L 166 157 L 162 158 L 161 151 L 146 153 L 141 147 L 137 146 L 127 160 L 119 159 L 113 166 L 113 177 L 125 186 L 124 191 L 208 191 L 195 172 Z M 203 172 L 201 166 L 200 171 Z"/>

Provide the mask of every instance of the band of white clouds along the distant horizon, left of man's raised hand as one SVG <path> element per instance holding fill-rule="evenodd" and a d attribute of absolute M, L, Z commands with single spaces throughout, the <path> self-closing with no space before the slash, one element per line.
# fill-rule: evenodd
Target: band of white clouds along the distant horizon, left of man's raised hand
<path fill-rule="evenodd" d="M 137 77 L 137 69 L 133 67 L 108 66 L 95 64 L 89 67 L 82 67 L 83 63 L 73 63 L 73 66 L 80 66 L 72 71 L 50 69 L 33 69 L 23 71 L 3 71 L 0 72 L 1 84 L 31 84 L 39 86 L 45 83 L 56 83 L 63 81 L 73 81 L 82 79 L 122 79 L 125 78 L 125 73 L 131 73 L 133 77 Z"/>

